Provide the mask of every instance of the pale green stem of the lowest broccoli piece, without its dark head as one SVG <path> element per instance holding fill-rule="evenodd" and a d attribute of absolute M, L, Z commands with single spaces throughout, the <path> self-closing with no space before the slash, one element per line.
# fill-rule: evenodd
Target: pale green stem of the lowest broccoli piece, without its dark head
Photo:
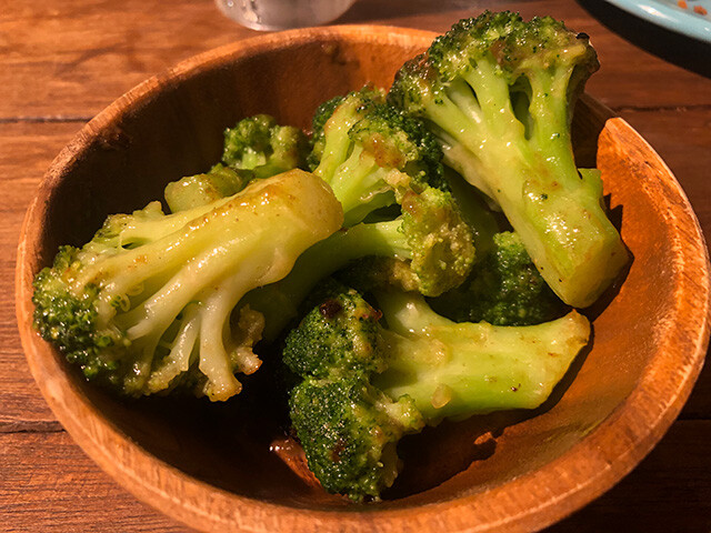
<path fill-rule="evenodd" d="M 588 320 L 575 311 L 539 325 L 458 324 L 420 295 L 375 296 L 390 355 L 373 384 L 393 400 L 411 398 L 429 423 L 539 406 L 590 335 Z"/>

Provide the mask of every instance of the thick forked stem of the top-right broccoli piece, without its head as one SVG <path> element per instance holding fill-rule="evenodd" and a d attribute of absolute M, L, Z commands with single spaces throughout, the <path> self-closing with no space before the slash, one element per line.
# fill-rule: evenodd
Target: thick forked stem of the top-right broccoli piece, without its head
<path fill-rule="evenodd" d="M 528 132 L 509 86 L 491 68 L 478 63 L 467 83 L 428 100 L 424 113 L 438 125 L 445 160 L 448 145 L 471 152 L 460 168 L 475 167 L 472 184 L 485 182 L 482 191 L 501 205 L 551 289 L 570 305 L 588 306 L 628 255 L 604 213 L 599 180 L 575 168 L 567 95 L 572 68 L 531 69 Z"/>

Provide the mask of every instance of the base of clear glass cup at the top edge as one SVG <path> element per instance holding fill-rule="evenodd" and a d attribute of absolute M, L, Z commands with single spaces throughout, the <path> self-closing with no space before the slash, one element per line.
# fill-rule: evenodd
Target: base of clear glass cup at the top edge
<path fill-rule="evenodd" d="M 339 18 L 356 0 L 216 0 L 230 19 L 252 30 L 319 26 Z"/>

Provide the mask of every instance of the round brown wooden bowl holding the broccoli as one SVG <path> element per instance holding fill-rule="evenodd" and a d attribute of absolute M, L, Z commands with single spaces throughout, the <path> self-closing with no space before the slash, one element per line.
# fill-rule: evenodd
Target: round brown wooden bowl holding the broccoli
<path fill-rule="evenodd" d="M 278 422 L 250 415 L 249 388 L 227 405 L 117 400 L 84 383 L 32 330 L 32 278 L 59 244 L 84 242 L 108 213 L 141 208 L 167 182 L 209 168 L 222 130 L 238 119 L 263 112 L 307 127 L 327 98 L 367 81 L 389 87 L 432 38 L 340 27 L 241 41 L 121 97 L 52 163 L 19 247 L 22 343 L 57 418 L 140 500 L 203 531 L 532 530 L 612 486 L 678 415 L 709 338 L 707 250 L 667 165 L 590 98 L 577 110 L 577 155 L 581 165 L 597 158 L 634 258 L 623 283 L 588 310 L 592 348 L 534 413 L 443 423 L 402 441 L 405 469 L 382 503 L 324 494 Z"/>

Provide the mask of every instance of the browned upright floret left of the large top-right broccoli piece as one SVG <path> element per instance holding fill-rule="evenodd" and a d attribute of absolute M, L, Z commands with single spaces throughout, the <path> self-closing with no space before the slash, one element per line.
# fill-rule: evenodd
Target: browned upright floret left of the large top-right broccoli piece
<path fill-rule="evenodd" d="M 422 123 L 388 105 L 384 94 L 365 87 L 317 113 L 319 164 L 313 172 L 343 204 L 346 225 L 401 203 L 408 192 L 445 189 L 442 152 Z"/>

